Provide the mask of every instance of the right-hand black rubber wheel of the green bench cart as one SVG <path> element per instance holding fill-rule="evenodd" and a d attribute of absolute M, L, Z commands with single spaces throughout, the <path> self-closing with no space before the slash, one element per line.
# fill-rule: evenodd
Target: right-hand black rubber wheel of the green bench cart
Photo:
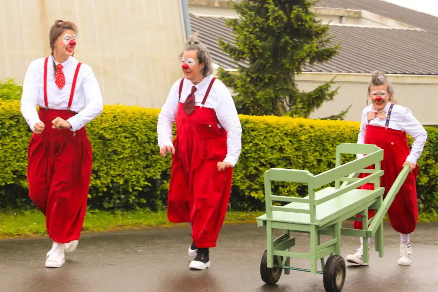
<path fill-rule="evenodd" d="M 329 256 L 324 269 L 324 288 L 326 292 L 341 292 L 346 276 L 345 261 L 342 256 Z"/>

